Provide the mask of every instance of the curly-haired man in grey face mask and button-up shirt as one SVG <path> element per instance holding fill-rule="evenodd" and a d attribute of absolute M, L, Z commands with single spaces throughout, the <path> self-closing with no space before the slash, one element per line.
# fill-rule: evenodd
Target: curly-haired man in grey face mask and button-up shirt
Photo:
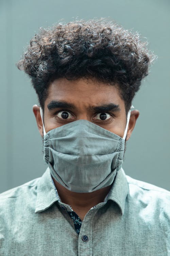
<path fill-rule="evenodd" d="M 33 37 L 18 67 L 38 95 L 48 168 L 1 194 L 0 255 L 170 255 L 169 191 L 122 169 L 152 60 L 137 33 L 104 19 Z"/>

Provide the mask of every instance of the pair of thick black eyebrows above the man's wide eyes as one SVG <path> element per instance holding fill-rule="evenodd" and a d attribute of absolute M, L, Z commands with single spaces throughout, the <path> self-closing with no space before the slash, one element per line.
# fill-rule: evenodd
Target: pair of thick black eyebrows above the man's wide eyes
<path fill-rule="evenodd" d="M 66 101 L 58 101 L 52 100 L 48 105 L 47 108 L 49 110 L 57 109 L 57 108 L 64 108 L 64 109 L 76 109 L 76 106 L 73 103 L 68 103 Z M 114 103 L 109 104 L 102 104 L 99 106 L 89 106 L 89 111 L 95 112 L 108 112 L 108 111 L 120 111 L 120 106 Z"/>

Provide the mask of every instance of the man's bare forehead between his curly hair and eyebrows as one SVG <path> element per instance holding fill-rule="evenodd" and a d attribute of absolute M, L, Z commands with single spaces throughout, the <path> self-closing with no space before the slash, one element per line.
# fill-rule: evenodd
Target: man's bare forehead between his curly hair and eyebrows
<path fill-rule="evenodd" d="M 46 104 L 56 99 L 74 102 L 74 104 L 96 105 L 108 102 L 124 104 L 117 87 L 91 79 L 54 80 L 49 85 Z"/>

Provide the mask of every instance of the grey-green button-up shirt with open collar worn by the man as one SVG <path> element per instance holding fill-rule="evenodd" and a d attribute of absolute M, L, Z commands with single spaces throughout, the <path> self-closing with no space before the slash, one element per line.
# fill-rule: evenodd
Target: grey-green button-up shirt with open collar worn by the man
<path fill-rule="evenodd" d="M 170 192 L 119 170 L 80 234 L 47 168 L 0 194 L 0 256 L 170 256 Z"/>

